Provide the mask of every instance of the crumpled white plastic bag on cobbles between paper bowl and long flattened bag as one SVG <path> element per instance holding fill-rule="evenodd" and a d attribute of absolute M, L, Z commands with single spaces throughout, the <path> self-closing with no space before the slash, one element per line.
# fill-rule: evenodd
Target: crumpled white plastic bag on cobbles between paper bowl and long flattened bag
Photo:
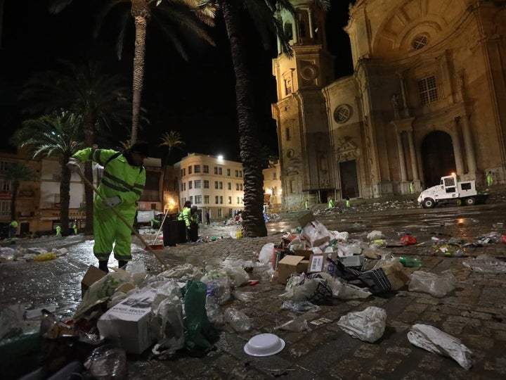
<path fill-rule="evenodd" d="M 374 343 L 384 334 L 387 326 L 387 312 L 382 308 L 369 306 L 361 312 L 349 312 L 337 321 L 344 332 L 361 341 Z"/>

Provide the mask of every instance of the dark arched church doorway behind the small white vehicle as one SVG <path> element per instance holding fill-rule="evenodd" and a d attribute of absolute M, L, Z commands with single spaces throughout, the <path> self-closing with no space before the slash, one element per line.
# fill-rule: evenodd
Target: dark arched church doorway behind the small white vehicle
<path fill-rule="evenodd" d="M 443 175 L 456 172 L 455 153 L 451 136 L 442 131 L 434 131 L 422 142 L 422 164 L 424 187 L 435 186 Z"/>

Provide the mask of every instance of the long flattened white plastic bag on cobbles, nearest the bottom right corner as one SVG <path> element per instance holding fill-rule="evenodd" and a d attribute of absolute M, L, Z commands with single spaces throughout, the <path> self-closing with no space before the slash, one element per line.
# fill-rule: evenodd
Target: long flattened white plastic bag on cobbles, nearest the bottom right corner
<path fill-rule="evenodd" d="M 472 352 L 462 342 L 446 332 L 427 324 L 413 324 L 408 331 L 408 341 L 413 346 L 423 348 L 431 353 L 451 357 L 462 368 L 472 367 Z"/>

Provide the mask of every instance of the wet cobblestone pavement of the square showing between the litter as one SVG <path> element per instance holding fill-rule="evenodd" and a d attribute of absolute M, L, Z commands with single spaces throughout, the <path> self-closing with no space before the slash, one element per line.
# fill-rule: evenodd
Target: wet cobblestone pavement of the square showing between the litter
<path fill-rule="evenodd" d="M 498 201 L 502 199 L 498 198 Z M 494 207 L 499 208 L 499 204 Z M 365 207 L 365 206 L 364 206 Z M 369 207 L 369 206 L 368 206 Z M 415 234 L 419 242 L 430 241 L 431 236 L 458 236 L 474 239 L 493 229 L 493 222 L 504 222 L 505 208 L 499 208 L 500 217 L 481 219 L 481 211 L 490 212 L 491 206 L 480 209 L 460 208 L 462 220 L 438 226 L 420 223 L 404 226 Z M 376 206 L 380 208 L 380 206 Z M 385 207 L 386 209 L 386 207 Z M 453 208 L 455 209 L 455 208 Z M 467 214 L 477 214 L 469 218 Z M 487 211 L 488 210 L 488 211 Z M 395 211 L 395 210 L 394 210 Z M 434 212 L 433 215 L 440 213 Z M 441 211 L 441 210 L 440 210 Z M 315 212 L 329 229 L 347 230 L 350 237 L 365 239 L 365 234 L 378 225 L 368 222 L 369 209 L 355 210 L 348 214 L 335 211 Z M 383 211 L 377 220 L 389 220 L 389 211 Z M 441 211 L 444 213 L 444 210 Z M 422 214 L 420 214 L 422 215 Z M 425 214 L 424 214 L 425 215 Z M 297 227 L 297 216 L 284 215 L 278 225 Z M 425 215 L 426 216 L 426 215 Z M 422 217 L 420 217 L 420 220 Z M 469 228 L 462 227 L 473 220 Z M 378 222 L 380 223 L 380 222 Z M 330 226 L 330 227 L 329 227 Z M 348 227 L 347 229 L 344 229 Z M 435 227 L 434 227 L 435 226 Z M 388 227 L 389 239 L 398 239 L 402 227 Z M 501 227 L 502 228 L 502 227 Z M 214 226 L 202 227 L 201 234 L 226 235 L 228 229 Z M 499 230 L 501 232 L 501 230 Z M 462 236 L 466 234 L 466 236 Z M 270 232 L 262 238 L 217 239 L 209 243 L 185 243 L 165 247 L 157 251 L 169 267 L 190 262 L 205 267 L 225 259 L 257 260 L 258 253 L 266 243 L 280 243 L 282 234 Z M 226 237 L 226 236 L 225 236 Z M 31 307 L 56 303 L 56 315 L 72 315 L 80 300 L 80 281 L 88 265 L 95 264 L 91 255 L 91 236 L 69 236 L 61 241 L 56 238 L 19 241 L 20 246 L 67 246 L 66 256 L 48 262 L 4 262 L 0 264 L 0 308 L 13 303 L 27 303 Z M 309 323 L 308 330 L 287 331 L 275 329 L 292 319 L 291 310 L 282 310 L 279 296 L 285 286 L 270 281 L 265 271 L 253 272 L 251 279 L 259 284 L 242 286 L 237 291 L 245 293 L 247 301 L 233 299 L 221 305 L 221 311 L 232 306 L 251 318 L 252 328 L 236 332 L 227 324 L 220 326 L 219 341 L 204 357 L 190 357 L 178 353 L 167 360 L 155 359 L 147 350 L 143 355 L 129 355 L 129 379 L 505 379 L 506 378 L 506 281 L 505 272 L 486 273 L 472 271 L 462 264 L 465 260 L 481 254 L 492 255 L 500 260 L 506 258 L 506 245 L 493 243 L 482 247 L 467 248 L 460 257 L 440 257 L 430 254 L 427 244 L 391 248 L 394 255 L 420 255 L 422 267 L 406 268 L 407 274 L 424 270 L 440 274 L 450 270 L 457 279 L 455 291 L 443 298 L 428 293 L 401 291 L 370 296 L 361 300 L 329 300 L 320 306 L 318 318 L 327 322 Z M 75 248 L 75 249 L 74 249 Z M 382 248 L 383 249 L 383 248 Z M 386 248 L 385 248 L 386 249 Z M 87 253 L 84 253 L 86 251 Z M 144 260 L 148 270 L 162 271 L 159 260 L 136 241 L 134 258 Z M 114 262 L 110 262 L 114 265 Z M 387 328 L 380 340 L 367 343 L 346 334 L 337 324 L 343 315 L 377 306 L 387 311 Z M 413 346 L 407 333 L 413 324 L 429 324 L 445 331 L 473 353 L 474 365 L 466 370 L 458 362 Z M 285 348 L 267 357 L 247 355 L 243 347 L 256 334 L 271 332 L 283 338 Z"/>

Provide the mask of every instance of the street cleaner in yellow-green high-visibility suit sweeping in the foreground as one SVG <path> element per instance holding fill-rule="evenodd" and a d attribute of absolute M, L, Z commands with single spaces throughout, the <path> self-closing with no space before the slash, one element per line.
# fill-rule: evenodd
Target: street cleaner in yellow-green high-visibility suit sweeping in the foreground
<path fill-rule="evenodd" d="M 103 198 L 96 195 L 93 201 L 93 254 L 98 259 L 98 267 L 104 272 L 109 272 L 109 256 L 113 250 L 118 267 L 123 267 L 132 258 L 131 229 L 117 213 L 130 225 L 134 224 L 136 201 L 141 198 L 145 186 L 143 162 L 148 157 L 148 148 L 145 141 L 137 141 L 122 152 L 84 148 L 67 163 L 73 172 L 77 171 L 79 163 L 88 160 L 104 167 L 97 189 Z M 111 208 L 115 208 L 117 213 Z"/>

